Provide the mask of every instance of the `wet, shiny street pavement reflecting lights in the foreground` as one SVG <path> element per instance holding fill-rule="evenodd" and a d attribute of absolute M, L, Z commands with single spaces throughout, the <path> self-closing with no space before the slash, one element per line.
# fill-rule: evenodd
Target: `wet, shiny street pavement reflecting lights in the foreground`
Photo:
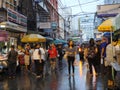
<path fill-rule="evenodd" d="M 49 71 L 40 79 L 31 72 L 21 72 L 14 79 L 3 75 L 0 90 L 107 90 L 105 78 L 90 76 L 87 66 L 81 62 L 75 66 L 75 75 L 69 77 L 67 63 L 63 61 L 56 71 Z"/>

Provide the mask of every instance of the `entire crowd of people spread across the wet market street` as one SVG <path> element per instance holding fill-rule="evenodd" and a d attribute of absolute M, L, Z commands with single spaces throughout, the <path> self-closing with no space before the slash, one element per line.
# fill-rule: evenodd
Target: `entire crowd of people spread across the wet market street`
<path fill-rule="evenodd" d="M 107 38 L 103 37 L 102 40 L 95 41 L 90 39 L 89 43 L 79 49 L 80 61 L 87 62 L 90 76 L 93 76 L 93 67 L 97 75 L 107 75 L 108 84 L 113 84 L 112 66 L 111 62 L 117 61 L 120 64 L 120 46 L 117 44 L 118 38 L 114 38 L 111 43 L 108 43 Z M 64 52 L 65 51 L 65 52 Z M 57 70 L 57 60 L 59 63 L 62 59 L 67 60 L 68 75 L 69 77 L 75 74 L 76 55 L 78 48 L 72 40 L 68 41 L 68 46 L 64 48 L 62 45 L 55 46 L 54 43 L 49 45 L 48 50 L 42 47 L 41 44 L 35 45 L 26 44 L 25 48 L 15 50 L 14 45 L 11 46 L 8 52 L 8 75 L 9 78 L 16 76 L 17 63 L 20 69 L 22 68 L 27 72 L 31 71 L 34 64 L 34 73 L 36 78 L 44 76 L 44 67 L 46 60 L 50 62 L 50 70 Z M 47 54 L 46 54 L 47 53 Z M 114 70 L 115 72 L 115 70 Z"/>

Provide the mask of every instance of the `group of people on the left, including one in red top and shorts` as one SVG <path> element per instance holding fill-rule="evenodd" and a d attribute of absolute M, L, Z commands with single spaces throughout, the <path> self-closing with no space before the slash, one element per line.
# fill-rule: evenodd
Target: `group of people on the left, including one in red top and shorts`
<path fill-rule="evenodd" d="M 48 50 L 42 47 L 41 44 L 35 45 L 26 44 L 25 47 L 19 46 L 15 49 L 12 45 L 8 52 L 8 75 L 9 78 L 16 76 L 16 69 L 19 66 L 19 71 L 32 71 L 36 74 L 36 78 L 45 75 L 45 62 L 50 63 L 50 69 L 56 70 L 57 59 L 62 62 L 63 50 L 62 45 L 55 46 L 54 43 L 49 45 Z M 34 70 L 32 70 L 34 67 Z"/>

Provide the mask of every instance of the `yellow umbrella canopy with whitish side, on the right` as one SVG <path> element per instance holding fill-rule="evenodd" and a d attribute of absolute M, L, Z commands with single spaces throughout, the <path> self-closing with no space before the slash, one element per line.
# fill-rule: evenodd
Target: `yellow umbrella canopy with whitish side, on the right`
<path fill-rule="evenodd" d="M 111 32 L 115 30 L 115 18 L 105 20 L 100 26 L 98 31 L 100 32 Z"/>

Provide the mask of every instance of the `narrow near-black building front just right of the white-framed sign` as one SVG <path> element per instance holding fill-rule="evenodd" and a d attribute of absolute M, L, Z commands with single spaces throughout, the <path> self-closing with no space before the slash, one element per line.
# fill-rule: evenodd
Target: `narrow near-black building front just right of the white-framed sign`
<path fill-rule="evenodd" d="M 27 29 L 30 31 L 36 30 L 36 14 L 35 14 L 35 4 L 32 0 L 17 0 L 18 12 L 27 17 Z"/>

